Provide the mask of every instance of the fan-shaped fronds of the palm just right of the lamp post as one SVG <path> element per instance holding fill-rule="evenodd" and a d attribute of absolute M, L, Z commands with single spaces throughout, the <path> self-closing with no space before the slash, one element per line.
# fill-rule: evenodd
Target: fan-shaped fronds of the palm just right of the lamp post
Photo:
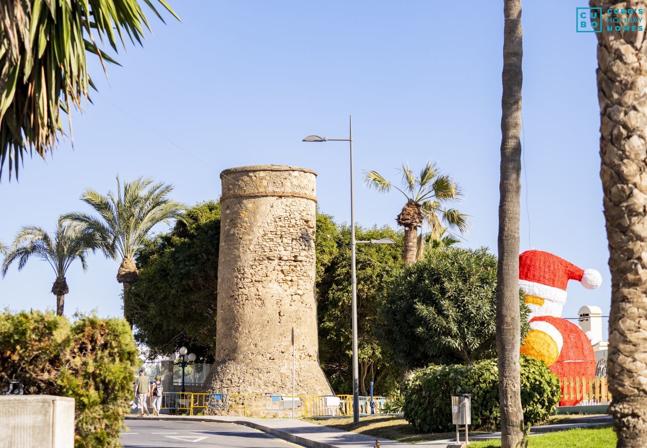
<path fill-rule="evenodd" d="M 420 173 L 416 175 L 408 165 L 403 164 L 400 169 L 402 173 L 402 188 L 393 185 L 378 172 L 370 171 L 364 176 L 366 185 L 378 192 L 388 193 L 395 188 L 402 193 L 408 202 L 415 204 L 416 210 L 412 214 L 418 214 L 420 218 L 431 227 L 433 239 L 438 239 L 444 230 L 455 230 L 463 234 L 468 230 L 468 216 L 455 208 L 445 208 L 446 203 L 457 201 L 462 193 L 454 180 L 446 174 L 442 174 L 437 164 L 427 162 Z M 405 206 L 406 207 L 406 206 Z M 400 222 L 400 225 L 407 223 Z M 413 223 L 420 227 L 417 221 Z"/>

